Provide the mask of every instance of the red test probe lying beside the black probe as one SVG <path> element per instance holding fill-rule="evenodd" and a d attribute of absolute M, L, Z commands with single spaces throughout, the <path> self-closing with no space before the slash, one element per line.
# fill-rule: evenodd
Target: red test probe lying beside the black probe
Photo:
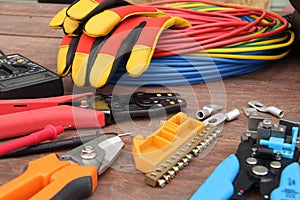
<path fill-rule="evenodd" d="M 64 132 L 64 129 L 65 128 L 63 126 L 47 125 L 43 130 L 1 144 L 0 155 L 4 155 L 30 145 L 36 145 L 47 140 L 55 140 L 57 135 Z"/>

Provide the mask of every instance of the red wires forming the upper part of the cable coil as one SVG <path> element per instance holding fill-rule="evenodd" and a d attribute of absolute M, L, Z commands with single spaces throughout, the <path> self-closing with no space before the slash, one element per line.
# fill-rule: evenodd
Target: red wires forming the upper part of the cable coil
<path fill-rule="evenodd" d="M 184 8 L 168 7 L 169 3 L 197 2 L 234 10 L 203 12 Z M 281 16 L 258 8 L 248 8 L 241 5 L 210 2 L 206 0 L 165 0 L 151 2 L 145 5 L 155 6 L 163 12 L 187 19 L 192 27 L 181 30 L 166 30 L 160 37 L 155 57 L 187 54 L 204 49 L 217 48 L 235 43 L 245 42 L 262 37 L 269 37 L 286 30 L 288 23 Z M 241 16 L 257 16 L 252 22 L 241 20 Z M 263 22 L 263 20 L 265 20 Z M 283 25 L 277 29 L 257 33 L 263 27 L 273 27 L 277 20 Z M 167 49 L 167 50 L 166 50 Z"/>

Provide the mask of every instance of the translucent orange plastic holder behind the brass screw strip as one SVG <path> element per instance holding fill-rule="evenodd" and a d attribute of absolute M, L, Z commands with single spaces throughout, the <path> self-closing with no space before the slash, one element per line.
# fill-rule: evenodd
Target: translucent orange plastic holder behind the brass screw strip
<path fill-rule="evenodd" d="M 148 173 L 172 155 L 179 147 L 193 138 L 204 124 L 179 112 L 147 138 L 133 138 L 132 153 L 138 170 Z"/>

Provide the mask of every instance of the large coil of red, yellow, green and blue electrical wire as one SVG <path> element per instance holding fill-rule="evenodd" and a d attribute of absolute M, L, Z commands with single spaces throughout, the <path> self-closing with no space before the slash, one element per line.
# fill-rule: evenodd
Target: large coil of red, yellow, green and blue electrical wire
<path fill-rule="evenodd" d="M 187 19 L 192 26 L 165 30 L 154 58 L 140 77 L 122 62 L 112 83 L 184 85 L 250 73 L 285 57 L 294 33 L 280 15 L 206 0 L 165 0 L 145 4 Z"/>

